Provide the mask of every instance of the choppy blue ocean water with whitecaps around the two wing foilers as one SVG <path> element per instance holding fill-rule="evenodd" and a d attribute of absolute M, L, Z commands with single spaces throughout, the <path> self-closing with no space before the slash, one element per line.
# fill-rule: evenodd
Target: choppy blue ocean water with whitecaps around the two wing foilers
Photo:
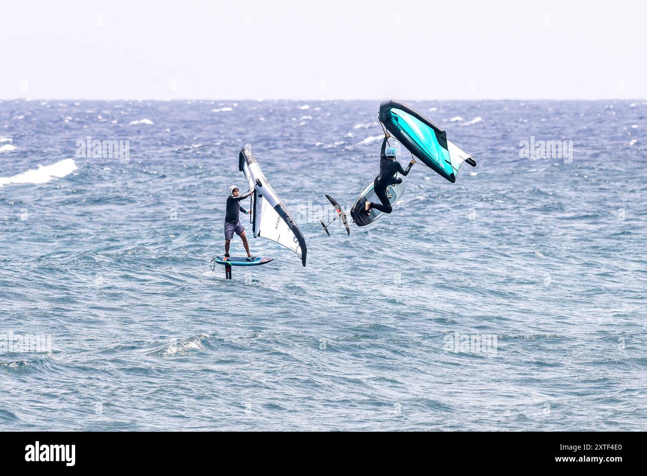
<path fill-rule="evenodd" d="M 647 102 L 406 102 L 476 168 L 331 237 L 377 101 L 0 102 L 0 429 L 646 430 Z M 307 266 L 225 280 L 245 142 Z"/>

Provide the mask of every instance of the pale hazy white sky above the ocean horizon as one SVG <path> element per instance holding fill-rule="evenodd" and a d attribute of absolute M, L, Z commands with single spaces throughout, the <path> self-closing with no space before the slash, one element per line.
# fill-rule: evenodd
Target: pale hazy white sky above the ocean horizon
<path fill-rule="evenodd" d="M 12 1 L 0 98 L 647 98 L 625 1 Z"/>

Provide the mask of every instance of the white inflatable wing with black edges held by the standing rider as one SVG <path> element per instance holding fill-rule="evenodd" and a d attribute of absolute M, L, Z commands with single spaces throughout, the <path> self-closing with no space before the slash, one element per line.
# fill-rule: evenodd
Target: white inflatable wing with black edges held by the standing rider
<path fill-rule="evenodd" d="M 261 172 L 249 144 L 241 149 L 238 156 L 238 168 L 245 174 L 249 187 L 256 187 L 252 195 L 254 238 L 262 236 L 285 246 L 299 256 L 305 266 L 307 249 L 303 233 Z"/>

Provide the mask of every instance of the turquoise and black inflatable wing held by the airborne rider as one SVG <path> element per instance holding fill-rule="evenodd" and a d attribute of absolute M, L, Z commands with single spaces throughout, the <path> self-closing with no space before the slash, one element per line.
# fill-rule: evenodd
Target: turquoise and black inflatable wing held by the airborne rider
<path fill-rule="evenodd" d="M 463 162 L 476 167 L 471 155 L 447 140 L 444 130 L 403 102 L 395 99 L 382 102 L 379 117 L 400 144 L 448 181 L 456 181 Z"/>

